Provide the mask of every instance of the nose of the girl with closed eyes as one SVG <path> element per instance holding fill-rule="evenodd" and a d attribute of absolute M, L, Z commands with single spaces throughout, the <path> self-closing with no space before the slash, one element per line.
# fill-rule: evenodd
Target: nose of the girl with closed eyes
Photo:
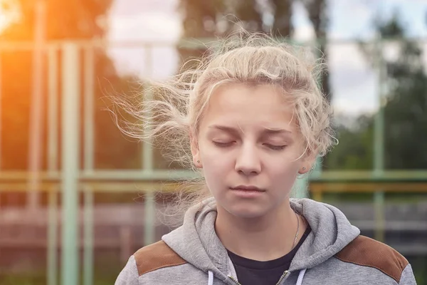
<path fill-rule="evenodd" d="M 246 144 L 241 146 L 241 150 L 236 158 L 236 171 L 243 175 L 257 175 L 261 171 L 260 157 L 256 148 Z"/>

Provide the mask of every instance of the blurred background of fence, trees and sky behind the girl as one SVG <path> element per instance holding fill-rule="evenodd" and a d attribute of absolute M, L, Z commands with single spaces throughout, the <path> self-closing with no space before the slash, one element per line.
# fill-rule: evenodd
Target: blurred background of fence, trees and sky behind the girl
<path fill-rule="evenodd" d="M 157 211 L 192 174 L 120 133 L 108 95 L 137 104 L 233 16 L 327 60 L 340 143 L 298 196 L 337 205 L 427 284 L 427 1 L 0 0 L 1 285 L 113 284 L 171 230 Z"/>

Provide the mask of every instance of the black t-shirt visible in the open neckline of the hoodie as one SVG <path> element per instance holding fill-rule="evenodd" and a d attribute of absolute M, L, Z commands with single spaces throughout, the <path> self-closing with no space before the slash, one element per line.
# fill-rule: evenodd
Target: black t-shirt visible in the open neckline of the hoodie
<path fill-rule="evenodd" d="M 240 257 L 233 252 L 228 251 L 228 257 L 233 261 L 234 268 L 236 269 L 238 283 L 242 285 L 275 285 L 279 281 L 283 272 L 289 269 L 290 262 L 295 257 L 301 244 L 305 241 L 308 234 L 310 234 L 310 226 L 307 227 L 302 235 L 300 242 L 288 254 L 278 259 L 269 261 L 257 261 Z"/>

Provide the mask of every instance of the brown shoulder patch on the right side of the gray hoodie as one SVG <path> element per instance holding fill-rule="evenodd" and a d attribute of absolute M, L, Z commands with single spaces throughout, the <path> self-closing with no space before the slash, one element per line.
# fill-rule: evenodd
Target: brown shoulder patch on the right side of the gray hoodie
<path fill-rule="evenodd" d="M 393 248 L 364 236 L 354 239 L 335 257 L 344 262 L 379 269 L 397 283 L 400 281 L 402 271 L 408 265 L 406 258 Z"/>

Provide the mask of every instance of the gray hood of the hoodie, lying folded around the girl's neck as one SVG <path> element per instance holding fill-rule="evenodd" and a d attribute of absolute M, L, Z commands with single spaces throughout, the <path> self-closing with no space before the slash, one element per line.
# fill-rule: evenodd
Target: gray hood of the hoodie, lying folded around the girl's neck
<path fill-rule="evenodd" d="M 329 204 L 290 199 L 290 205 L 307 219 L 312 229 L 292 260 L 290 271 L 322 264 L 360 234 L 339 209 Z M 211 271 L 216 278 L 231 284 L 228 275 L 233 269 L 228 267 L 226 248 L 214 230 L 216 214 L 215 199 L 206 199 L 202 206 L 191 207 L 184 216 L 184 224 L 162 239 L 190 264 L 206 274 Z"/>

